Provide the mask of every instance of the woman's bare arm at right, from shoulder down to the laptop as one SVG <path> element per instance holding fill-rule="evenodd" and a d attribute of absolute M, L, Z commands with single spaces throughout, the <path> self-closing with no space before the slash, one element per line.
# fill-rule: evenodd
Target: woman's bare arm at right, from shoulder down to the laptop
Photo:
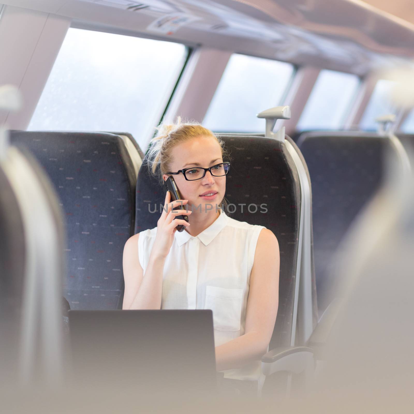
<path fill-rule="evenodd" d="M 279 304 L 279 243 L 262 229 L 250 274 L 244 335 L 216 347 L 216 369 L 239 368 L 260 359 L 272 337 Z"/>

